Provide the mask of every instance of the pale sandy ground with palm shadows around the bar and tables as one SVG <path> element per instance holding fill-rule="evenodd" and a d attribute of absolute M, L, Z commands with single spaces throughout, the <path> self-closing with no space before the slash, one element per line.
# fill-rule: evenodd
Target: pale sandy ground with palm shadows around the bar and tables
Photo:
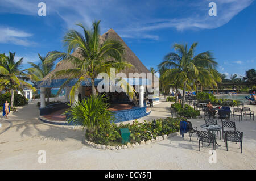
<path fill-rule="evenodd" d="M 256 106 L 249 107 L 256 112 Z M 167 116 L 170 103 L 162 101 L 145 119 Z M 97 150 L 83 144 L 80 127 L 46 124 L 38 117 L 36 101 L 11 112 L 9 119 L 1 116 L 0 169 L 256 169 L 256 120 L 238 122 L 237 117 L 237 128 L 244 132 L 243 153 L 236 143 L 230 142 L 226 151 L 224 141 L 217 140 L 217 163 L 210 164 L 211 146 L 204 144 L 199 151 L 195 135 L 191 142 L 185 134 L 184 140 L 177 135 L 133 149 Z M 189 120 L 204 130 L 203 119 Z M 46 151 L 46 163 L 38 163 L 39 150 Z"/>

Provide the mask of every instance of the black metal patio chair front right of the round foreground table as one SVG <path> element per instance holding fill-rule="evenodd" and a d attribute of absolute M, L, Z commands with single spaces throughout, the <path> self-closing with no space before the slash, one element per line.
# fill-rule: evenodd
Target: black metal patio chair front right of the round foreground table
<path fill-rule="evenodd" d="M 239 142 L 239 148 L 241 148 L 241 153 L 243 151 L 243 132 L 240 131 L 226 131 L 225 132 L 226 140 L 226 151 L 228 151 L 228 141 Z"/>

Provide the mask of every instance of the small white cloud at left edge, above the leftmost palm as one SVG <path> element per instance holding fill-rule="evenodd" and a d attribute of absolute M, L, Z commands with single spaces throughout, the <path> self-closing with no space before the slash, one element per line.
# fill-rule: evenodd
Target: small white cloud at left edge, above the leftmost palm
<path fill-rule="evenodd" d="M 31 33 L 26 33 L 21 30 L 0 27 L 0 43 L 10 43 L 15 45 L 28 46 L 32 42 L 28 41 L 27 37 L 31 36 Z"/>

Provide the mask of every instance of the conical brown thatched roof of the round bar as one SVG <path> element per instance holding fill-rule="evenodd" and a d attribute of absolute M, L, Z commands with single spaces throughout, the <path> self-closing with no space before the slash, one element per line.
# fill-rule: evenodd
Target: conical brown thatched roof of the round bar
<path fill-rule="evenodd" d="M 125 70 L 122 70 L 123 73 L 127 75 L 127 78 L 129 76 L 128 73 L 150 73 L 150 71 L 142 64 L 142 62 L 139 60 L 139 58 L 133 53 L 133 51 L 126 45 L 126 43 L 121 39 L 121 37 L 113 30 L 110 29 L 107 32 L 105 32 L 100 37 L 100 42 L 103 43 L 105 40 L 112 39 L 112 40 L 118 40 L 123 43 L 123 46 L 125 47 L 125 54 L 123 56 L 123 59 L 126 62 L 129 62 L 133 65 L 132 68 L 127 68 Z M 75 50 L 75 52 L 72 53 L 73 56 L 79 57 L 79 49 Z M 67 60 L 62 60 L 59 63 L 57 63 L 56 68 L 51 71 L 46 77 L 43 78 L 43 83 L 45 83 L 47 80 L 49 81 L 49 78 L 59 70 L 63 69 L 70 69 L 74 68 L 74 65 L 68 62 Z M 62 77 L 61 77 L 62 78 Z M 63 77 L 63 79 L 68 77 Z M 154 80 L 153 80 L 154 81 Z"/>

